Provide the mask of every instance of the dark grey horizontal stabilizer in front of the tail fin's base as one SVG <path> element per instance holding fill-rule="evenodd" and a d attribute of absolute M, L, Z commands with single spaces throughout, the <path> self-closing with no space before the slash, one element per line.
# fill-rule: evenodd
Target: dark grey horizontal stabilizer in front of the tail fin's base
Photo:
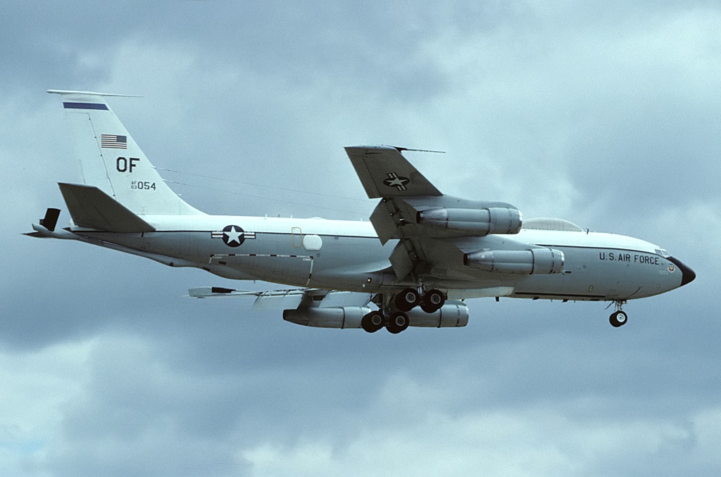
<path fill-rule="evenodd" d="M 76 226 L 108 232 L 152 232 L 153 226 L 97 187 L 58 184 Z"/>

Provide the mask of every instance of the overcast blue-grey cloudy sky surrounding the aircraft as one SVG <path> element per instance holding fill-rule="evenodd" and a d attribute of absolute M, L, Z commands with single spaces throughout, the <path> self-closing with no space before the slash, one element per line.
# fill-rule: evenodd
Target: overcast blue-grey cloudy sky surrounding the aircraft
<path fill-rule="evenodd" d="M 3 1 L 0 474 L 718 476 L 721 7 L 588 3 Z M 367 220 L 343 146 L 428 148 L 443 192 L 698 278 L 620 329 L 606 303 L 396 336 L 184 298 L 277 285 L 21 235 L 79 180 L 46 89 L 142 95 L 110 105 L 208 213 Z"/>

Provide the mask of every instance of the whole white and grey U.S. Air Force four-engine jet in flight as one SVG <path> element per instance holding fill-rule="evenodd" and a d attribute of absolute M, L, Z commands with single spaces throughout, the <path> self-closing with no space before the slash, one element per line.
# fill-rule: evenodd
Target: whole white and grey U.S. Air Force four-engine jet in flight
<path fill-rule="evenodd" d="M 283 309 L 296 324 L 371 333 L 465 326 L 468 298 L 609 301 L 618 327 L 627 300 L 696 277 L 647 241 L 556 218 L 523 220 L 505 202 L 445 195 L 397 147 L 345 148 L 368 197 L 379 199 L 370 223 L 208 215 L 167 186 L 110 110 L 105 98 L 121 95 L 48 92 L 61 96 L 82 183 L 59 184 L 68 227 L 57 228 L 60 210 L 49 208 L 27 235 L 295 287 L 199 287 L 192 297 L 255 295 L 254 308 Z"/>

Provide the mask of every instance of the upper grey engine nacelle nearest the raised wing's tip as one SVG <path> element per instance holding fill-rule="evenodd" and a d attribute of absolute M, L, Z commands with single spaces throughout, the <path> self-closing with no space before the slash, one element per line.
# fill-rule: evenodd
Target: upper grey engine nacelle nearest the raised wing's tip
<path fill-rule="evenodd" d="M 421 210 L 416 222 L 441 230 L 487 235 L 521 231 L 521 211 L 513 208 L 440 208 Z"/>

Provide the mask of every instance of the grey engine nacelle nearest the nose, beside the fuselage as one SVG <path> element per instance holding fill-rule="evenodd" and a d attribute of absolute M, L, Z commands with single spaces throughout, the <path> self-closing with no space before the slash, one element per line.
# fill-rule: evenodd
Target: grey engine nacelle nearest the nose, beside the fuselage
<path fill-rule="evenodd" d="M 563 252 L 555 249 L 485 250 L 466 254 L 464 264 L 486 272 L 560 273 L 563 269 Z"/>

